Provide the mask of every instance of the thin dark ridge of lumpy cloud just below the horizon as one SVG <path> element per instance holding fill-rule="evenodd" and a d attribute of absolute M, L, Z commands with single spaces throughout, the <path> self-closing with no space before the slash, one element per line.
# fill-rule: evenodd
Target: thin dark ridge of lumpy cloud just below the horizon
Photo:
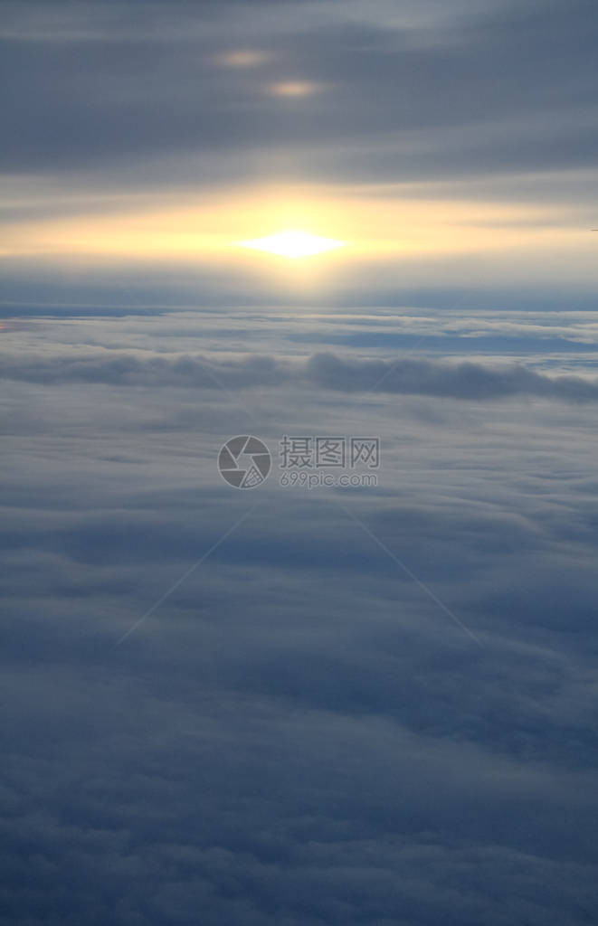
<path fill-rule="evenodd" d="M 247 357 L 215 363 L 206 357 L 149 357 L 118 352 L 75 357 L 3 357 L 0 375 L 41 383 L 109 383 L 129 386 L 178 386 L 242 389 L 303 383 L 344 393 L 419 394 L 486 401 L 538 396 L 566 402 L 595 402 L 598 382 L 581 376 L 549 376 L 522 365 L 492 367 L 438 360 L 357 360 L 331 353 L 304 363 L 274 357 Z"/>

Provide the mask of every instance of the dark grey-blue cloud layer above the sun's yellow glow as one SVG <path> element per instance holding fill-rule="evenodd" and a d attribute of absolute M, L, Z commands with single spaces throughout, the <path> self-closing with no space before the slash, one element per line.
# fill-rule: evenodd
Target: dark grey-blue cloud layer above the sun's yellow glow
<path fill-rule="evenodd" d="M 489 4 L 417 28 L 392 26 L 382 11 L 377 21 L 376 7 L 359 20 L 330 3 L 320 15 L 277 5 L 276 17 L 268 4 L 239 5 L 232 21 L 230 7 L 174 5 L 167 16 L 153 6 L 143 23 L 136 5 L 122 6 L 107 17 L 81 6 L 74 36 L 62 6 L 62 38 L 48 41 L 27 21 L 18 38 L 9 31 L 6 169 L 185 149 L 234 155 L 230 179 L 246 179 L 247 155 L 268 150 L 291 174 L 316 177 L 330 175 L 333 157 L 337 180 L 593 166 L 597 26 L 586 0 Z M 271 60 L 218 67 L 218 51 L 253 35 Z M 289 78 L 322 93 L 291 106 L 264 93 Z"/>

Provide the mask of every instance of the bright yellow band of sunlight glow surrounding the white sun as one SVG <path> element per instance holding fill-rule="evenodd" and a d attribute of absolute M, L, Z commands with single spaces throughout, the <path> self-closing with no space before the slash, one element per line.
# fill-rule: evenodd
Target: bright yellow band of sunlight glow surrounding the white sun
<path fill-rule="evenodd" d="M 489 272 L 508 261 L 517 279 L 541 265 L 543 275 L 562 274 L 567 263 L 572 279 L 582 274 L 595 281 L 595 241 L 587 231 L 595 226 L 592 204 L 574 214 L 554 203 L 451 199 L 433 183 L 280 182 L 99 196 L 85 186 L 65 194 L 64 187 L 46 189 L 40 181 L 35 195 L 43 198 L 33 212 L 30 187 L 31 181 L 14 193 L 4 191 L 12 206 L 7 213 L 19 218 L 0 220 L 0 267 L 2 258 L 56 267 L 74 261 L 190 267 L 231 262 L 243 271 L 268 273 L 268 279 L 278 274 L 285 285 L 303 286 L 308 277 L 323 286 L 340 268 L 366 273 L 371 267 L 394 279 L 427 259 L 476 255 Z"/>

